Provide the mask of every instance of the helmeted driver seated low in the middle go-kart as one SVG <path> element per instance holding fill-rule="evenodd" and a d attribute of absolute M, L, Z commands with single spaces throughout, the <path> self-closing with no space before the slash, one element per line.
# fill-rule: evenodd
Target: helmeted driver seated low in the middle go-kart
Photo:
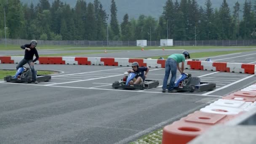
<path fill-rule="evenodd" d="M 133 80 L 131 80 L 129 82 L 129 84 L 139 84 L 139 83 L 143 83 L 145 81 L 145 78 L 147 78 L 147 73 L 149 72 L 149 68 L 148 67 L 139 67 L 139 63 L 138 62 L 133 62 L 131 67 L 133 69 L 129 69 L 127 72 L 136 72 L 136 77 L 133 78 Z M 145 72 L 145 74 L 144 74 Z"/>

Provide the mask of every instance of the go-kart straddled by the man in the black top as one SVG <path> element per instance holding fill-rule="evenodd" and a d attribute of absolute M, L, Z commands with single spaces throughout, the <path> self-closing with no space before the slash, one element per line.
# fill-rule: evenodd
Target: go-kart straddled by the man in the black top
<path fill-rule="evenodd" d="M 32 71 L 29 68 L 20 67 L 14 76 L 6 76 L 4 80 L 7 82 L 32 83 Z M 37 75 L 37 82 L 48 82 L 49 80 L 51 80 L 51 75 Z"/>

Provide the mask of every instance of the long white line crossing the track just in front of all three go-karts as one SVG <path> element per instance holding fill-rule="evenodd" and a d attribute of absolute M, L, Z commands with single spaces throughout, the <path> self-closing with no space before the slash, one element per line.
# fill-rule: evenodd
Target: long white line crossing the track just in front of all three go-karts
<path fill-rule="evenodd" d="M 2 84 L 2 83 L 0 83 Z M 38 85 L 38 84 L 24 84 L 24 83 L 3 83 L 3 84 L 14 84 L 14 85 L 33 85 L 33 86 L 46 86 L 46 87 L 55 87 L 55 88 L 79 88 L 79 89 L 90 89 L 90 90 L 104 90 L 104 91 L 127 91 L 127 92 L 137 92 L 137 93 L 162 93 L 154 91 L 132 91 L 132 90 L 123 90 L 123 89 L 106 89 L 106 88 L 83 88 L 83 87 L 71 87 L 71 86 L 59 86 L 59 85 Z M 202 95 L 202 94 L 189 94 L 189 93 L 163 93 L 163 94 L 175 94 L 175 95 L 191 95 L 191 96 L 210 96 L 210 97 L 222 97 L 215 95 Z"/>

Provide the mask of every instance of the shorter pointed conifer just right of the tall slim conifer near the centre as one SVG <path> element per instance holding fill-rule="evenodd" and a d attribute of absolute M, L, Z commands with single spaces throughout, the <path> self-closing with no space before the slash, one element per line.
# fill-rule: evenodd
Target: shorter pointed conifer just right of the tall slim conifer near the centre
<path fill-rule="evenodd" d="M 127 13 L 123 16 L 123 22 L 121 23 L 121 35 L 121 40 L 131 40 L 131 23 Z"/>

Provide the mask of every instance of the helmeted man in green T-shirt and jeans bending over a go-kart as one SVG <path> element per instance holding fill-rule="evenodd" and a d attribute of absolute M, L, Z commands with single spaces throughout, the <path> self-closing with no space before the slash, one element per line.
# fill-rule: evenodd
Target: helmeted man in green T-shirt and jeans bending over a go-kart
<path fill-rule="evenodd" d="M 165 77 L 163 80 L 163 87 L 162 87 L 163 93 L 165 93 L 165 90 L 167 88 L 170 72 L 171 72 L 171 80 L 170 80 L 170 87 L 168 88 L 168 92 L 176 92 L 174 90 L 176 72 L 178 69 L 181 74 L 183 73 L 184 61 L 186 59 L 190 59 L 188 51 L 183 51 L 182 53 L 176 53 L 168 56 L 168 59 L 166 59 L 165 61 Z M 181 63 L 181 68 L 179 67 L 179 63 Z"/>

